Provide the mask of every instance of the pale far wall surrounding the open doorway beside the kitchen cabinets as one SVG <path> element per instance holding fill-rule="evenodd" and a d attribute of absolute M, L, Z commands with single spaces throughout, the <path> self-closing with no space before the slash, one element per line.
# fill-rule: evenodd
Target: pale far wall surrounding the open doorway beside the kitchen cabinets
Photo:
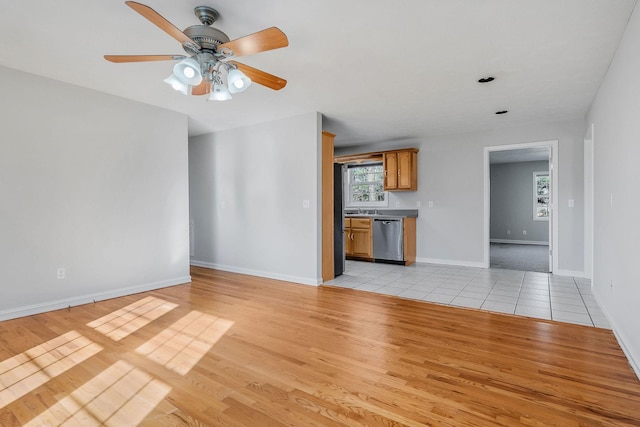
<path fill-rule="evenodd" d="M 341 148 L 337 154 L 417 147 L 418 191 L 394 192 L 390 208 L 415 209 L 417 260 L 484 265 L 484 147 L 558 140 L 559 272 L 583 271 L 583 138 L 585 122 L 535 123 L 494 132 Z M 336 136 L 339 140 L 340 135 Z M 567 201 L 575 200 L 573 208 Z M 433 201 L 433 208 L 428 208 Z"/>

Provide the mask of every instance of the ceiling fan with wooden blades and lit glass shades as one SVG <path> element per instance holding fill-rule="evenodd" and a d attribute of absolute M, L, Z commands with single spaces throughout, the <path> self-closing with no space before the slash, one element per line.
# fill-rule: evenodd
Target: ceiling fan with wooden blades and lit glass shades
<path fill-rule="evenodd" d="M 111 62 L 179 61 L 165 83 L 185 95 L 209 95 L 208 99 L 226 101 L 232 93 L 243 92 L 251 82 L 274 90 L 286 86 L 287 81 L 262 70 L 233 61 L 237 56 L 252 55 L 289 45 L 287 36 L 278 28 L 271 27 L 239 39 L 229 37 L 211 27 L 220 16 L 209 6 L 194 9 L 201 25 L 192 25 L 180 31 L 158 12 L 141 3 L 126 1 L 125 4 L 147 18 L 161 30 L 182 44 L 186 55 L 105 55 Z M 224 84 L 226 75 L 228 88 Z"/>

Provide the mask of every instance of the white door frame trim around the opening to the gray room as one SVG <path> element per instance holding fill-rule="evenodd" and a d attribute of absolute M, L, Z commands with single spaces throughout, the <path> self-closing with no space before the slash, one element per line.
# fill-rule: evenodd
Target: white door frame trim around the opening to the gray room
<path fill-rule="evenodd" d="M 551 251 L 551 272 L 558 271 L 558 140 L 525 142 L 521 144 L 495 145 L 484 147 L 484 268 L 490 266 L 490 226 L 491 226 L 491 164 L 489 156 L 494 151 L 522 150 L 549 147 L 549 176 L 551 178 L 551 216 L 549 218 L 549 250 Z"/>

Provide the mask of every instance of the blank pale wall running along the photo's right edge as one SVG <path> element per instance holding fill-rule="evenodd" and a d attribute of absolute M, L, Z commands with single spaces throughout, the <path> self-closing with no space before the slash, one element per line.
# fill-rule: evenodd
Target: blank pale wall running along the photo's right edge
<path fill-rule="evenodd" d="M 638 376 L 639 51 L 640 10 L 636 8 L 588 115 L 588 123 L 594 125 L 592 287 Z"/>

